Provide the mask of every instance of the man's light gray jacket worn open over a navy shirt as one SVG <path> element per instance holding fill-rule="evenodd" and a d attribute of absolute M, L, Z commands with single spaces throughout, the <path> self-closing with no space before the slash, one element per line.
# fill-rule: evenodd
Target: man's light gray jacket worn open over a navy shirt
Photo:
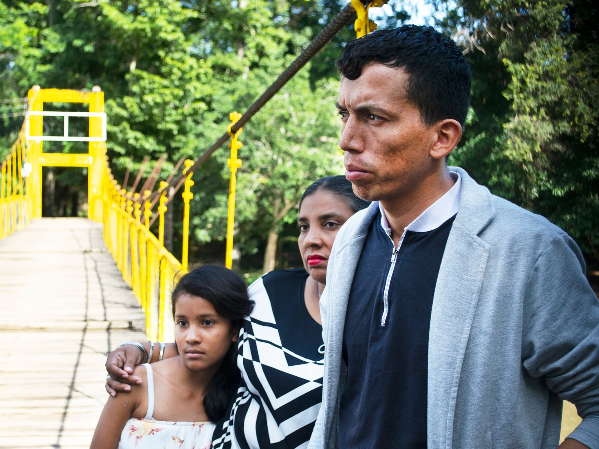
<path fill-rule="evenodd" d="M 553 449 L 562 399 L 583 417 L 570 437 L 599 448 L 599 302 L 579 248 L 543 217 L 449 169 L 462 190 L 432 304 L 428 449 Z M 347 299 L 378 208 L 348 220 L 329 258 L 323 401 L 310 449 L 338 444 Z"/>

